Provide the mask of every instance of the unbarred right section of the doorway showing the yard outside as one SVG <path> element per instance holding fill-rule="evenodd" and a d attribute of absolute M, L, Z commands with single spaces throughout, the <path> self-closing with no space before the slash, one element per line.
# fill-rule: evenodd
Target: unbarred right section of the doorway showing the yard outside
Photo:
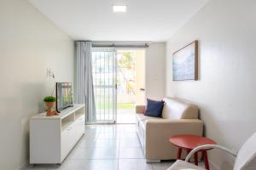
<path fill-rule="evenodd" d="M 135 123 L 136 105 L 145 105 L 145 50 L 117 50 L 117 123 Z"/>

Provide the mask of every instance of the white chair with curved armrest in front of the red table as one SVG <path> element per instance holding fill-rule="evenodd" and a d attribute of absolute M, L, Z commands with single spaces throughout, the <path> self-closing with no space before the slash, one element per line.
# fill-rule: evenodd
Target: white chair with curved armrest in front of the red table
<path fill-rule="evenodd" d="M 236 156 L 231 150 L 228 150 L 224 146 L 217 144 L 206 144 L 196 147 L 192 150 L 189 155 L 186 157 L 185 161 L 177 160 L 171 167 L 167 170 L 204 170 L 202 167 L 197 167 L 189 163 L 190 156 L 202 149 L 206 148 L 218 148 L 230 153 L 231 156 Z M 253 134 L 246 143 L 241 146 L 241 149 L 238 151 L 236 156 L 236 161 L 233 170 L 255 170 L 256 169 L 256 133 Z"/>

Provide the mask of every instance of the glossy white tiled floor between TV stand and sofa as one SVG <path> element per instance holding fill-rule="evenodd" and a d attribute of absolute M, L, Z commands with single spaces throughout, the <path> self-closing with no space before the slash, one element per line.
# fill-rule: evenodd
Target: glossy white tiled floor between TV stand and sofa
<path fill-rule="evenodd" d="M 172 163 L 147 163 L 133 124 L 90 125 L 61 166 L 36 165 L 27 170 L 166 170 Z"/>

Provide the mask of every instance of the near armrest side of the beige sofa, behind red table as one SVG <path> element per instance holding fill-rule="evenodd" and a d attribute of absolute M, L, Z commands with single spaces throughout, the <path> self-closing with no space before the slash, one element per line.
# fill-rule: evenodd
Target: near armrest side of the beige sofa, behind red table
<path fill-rule="evenodd" d="M 177 156 L 177 147 L 169 142 L 175 135 L 190 134 L 201 136 L 203 122 L 198 119 L 148 120 L 145 125 L 146 159 L 170 159 Z"/>

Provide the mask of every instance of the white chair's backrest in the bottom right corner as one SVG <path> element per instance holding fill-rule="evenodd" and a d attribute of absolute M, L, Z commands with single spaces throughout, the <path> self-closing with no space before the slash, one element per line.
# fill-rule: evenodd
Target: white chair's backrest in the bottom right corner
<path fill-rule="evenodd" d="M 256 133 L 241 146 L 236 156 L 234 170 L 256 169 Z"/>

